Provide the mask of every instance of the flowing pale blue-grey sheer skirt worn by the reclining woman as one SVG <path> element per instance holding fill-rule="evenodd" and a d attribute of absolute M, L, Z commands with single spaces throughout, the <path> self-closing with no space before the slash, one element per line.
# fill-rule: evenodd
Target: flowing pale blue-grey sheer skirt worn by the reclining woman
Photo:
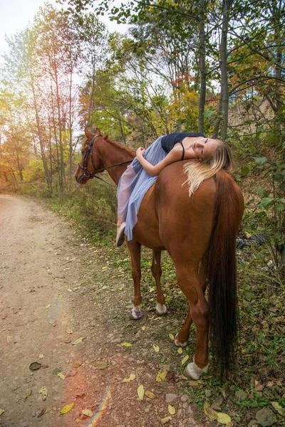
<path fill-rule="evenodd" d="M 153 166 L 167 156 L 167 152 L 161 147 L 162 137 L 157 138 L 145 150 L 144 157 Z M 125 221 L 125 235 L 128 241 L 133 238 L 133 228 L 138 222 L 138 211 L 142 199 L 156 180 L 157 176 L 147 174 L 136 157 L 120 177 L 117 191 L 118 218 L 120 221 Z"/>

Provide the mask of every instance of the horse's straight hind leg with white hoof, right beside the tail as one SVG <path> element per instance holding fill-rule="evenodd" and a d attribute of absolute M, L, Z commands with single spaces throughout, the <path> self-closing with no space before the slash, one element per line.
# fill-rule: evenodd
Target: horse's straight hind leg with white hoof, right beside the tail
<path fill-rule="evenodd" d="M 208 304 L 195 268 L 186 269 L 185 265 L 176 265 L 176 276 L 189 303 L 188 323 L 191 318 L 197 330 L 194 362 L 187 365 L 184 374 L 192 379 L 199 379 L 202 372 L 207 372 L 208 369 Z"/>

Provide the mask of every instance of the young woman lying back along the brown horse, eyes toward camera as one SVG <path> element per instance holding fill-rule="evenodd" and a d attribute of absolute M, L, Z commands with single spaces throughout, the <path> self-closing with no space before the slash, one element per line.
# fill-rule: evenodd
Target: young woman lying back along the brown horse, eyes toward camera
<path fill-rule="evenodd" d="M 219 169 L 229 173 L 233 169 L 232 153 L 227 143 L 206 138 L 201 133 L 176 132 L 159 137 L 147 149 L 138 148 L 136 155 L 118 186 L 117 246 L 123 244 L 125 235 L 128 241 L 132 240 L 142 199 L 168 164 L 197 159 L 197 162 L 185 164 L 190 196 L 204 179 L 217 174 Z"/>

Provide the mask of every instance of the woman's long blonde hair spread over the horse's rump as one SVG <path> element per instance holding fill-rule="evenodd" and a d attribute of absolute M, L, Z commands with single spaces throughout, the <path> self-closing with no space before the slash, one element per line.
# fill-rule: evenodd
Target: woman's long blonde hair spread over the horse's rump
<path fill-rule="evenodd" d="M 231 149 L 227 142 L 219 142 L 219 146 L 210 159 L 204 160 L 204 162 L 192 161 L 183 167 L 185 174 L 187 174 L 187 179 L 182 185 L 189 184 L 189 196 L 197 190 L 204 179 L 212 178 L 220 169 L 224 169 L 228 174 L 233 172 L 234 160 Z"/>

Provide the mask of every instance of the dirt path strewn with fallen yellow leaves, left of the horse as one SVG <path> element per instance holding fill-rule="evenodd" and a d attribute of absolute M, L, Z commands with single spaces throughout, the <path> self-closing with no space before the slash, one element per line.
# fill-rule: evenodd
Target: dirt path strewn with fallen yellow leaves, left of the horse
<path fill-rule="evenodd" d="M 157 322 L 153 312 L 128 320 L 130 278 L 122 283 L 100 248 L 40 204 L 16 196 L 0 196 L 0 243 L 0 426 L 158 427 L 170 416 L 166 400 L 176 413 L 165 425 L 207 425 L 194 420 L 170 357 L 165 337 L 175 332 L 173 320 Z M 41 367 L 32 371 L 32 362 Z M 162 371 L 167 377 L 157 382 Z M 122 383 L 130 374 L 135 379 Z M 155 399 L 141 401 L 140 384 Z M 93 417 L 84 418 L 83 409 Z"/>

